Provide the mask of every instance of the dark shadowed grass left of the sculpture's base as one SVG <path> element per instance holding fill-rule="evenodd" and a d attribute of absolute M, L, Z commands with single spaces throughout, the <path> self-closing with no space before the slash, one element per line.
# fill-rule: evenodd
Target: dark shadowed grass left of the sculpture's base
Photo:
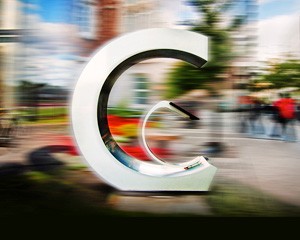
<path fill-rule="evenodd" d="M 55 172 L 28 172 L 0 176 L 1 216 L 157 216 L 113 209 L 106 202 L 111 190 L 106 184 L 88 186 L 73 178 L 81 171 L 63 168 Z"/>

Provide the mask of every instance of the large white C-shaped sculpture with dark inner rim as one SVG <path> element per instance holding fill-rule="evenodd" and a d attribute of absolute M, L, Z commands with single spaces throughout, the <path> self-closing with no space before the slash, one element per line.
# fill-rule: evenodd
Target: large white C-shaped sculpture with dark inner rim
<path fill-rule="evenodd" d="M 207 55 L 206 36 L 166 28 L 125 34 L 96 51 L 75 86 L 71 119 L 79 150 L 100 178 L 123 191 L 209 190 L 217 169 L 204 157 L 178 165 L 161 162 L 155 155 L 151 157 L 157 164 L 135 159 L 119 147 L 107 120 L 109 93 L 118 77 L 132 65 L 167 57 L 201 67 Z M 152 110 L 167 103 L 170 102 L 160 102 Z M 176 106 L 172 107 L 171 110 L 178 111 Z"/>

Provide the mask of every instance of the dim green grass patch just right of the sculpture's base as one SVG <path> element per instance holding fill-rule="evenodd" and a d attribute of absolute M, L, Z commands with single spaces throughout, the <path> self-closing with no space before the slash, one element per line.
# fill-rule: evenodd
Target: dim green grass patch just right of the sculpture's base
<path fill-rule="evenodd" d="M 236 182 L 216 184 L 207 196 L 213 215 L 218 217 L 300 216 L 300 208 L 276 200 L 257 189 Z"/>

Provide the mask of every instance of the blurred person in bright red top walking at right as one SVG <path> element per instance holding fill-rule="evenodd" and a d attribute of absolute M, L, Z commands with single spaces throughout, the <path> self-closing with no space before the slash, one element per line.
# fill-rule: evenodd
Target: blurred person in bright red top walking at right
<path fill-rule="evenodd" d="M 288 127 L 294 127 L 296 119 L 296 101 L 290 97 L 288 93 L 280 94 L 280 98 L 273 102 L 275 108 L 274 126 L 271 132 L 271 137 L 281 137 L 283 140 L 295 140 L 295 129 L 292 129 L 293 137 L 288 133 Z M 281 132 L 279 133 L 278 125 L 280 125 Z"/>

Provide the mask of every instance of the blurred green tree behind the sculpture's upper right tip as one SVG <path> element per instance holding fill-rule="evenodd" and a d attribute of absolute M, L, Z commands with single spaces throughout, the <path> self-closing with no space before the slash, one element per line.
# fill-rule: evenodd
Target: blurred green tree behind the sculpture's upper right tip
<path fill-rule="evenodd" d="M 167 97 L 172 98 L 195 88 L 211 91 L 214 84 L 224 80 L 224 73 L 233 58 L 231 33 L 245 22 L 245 15 L 230 17 L 226 13 L 234 6 L 231 0 L 190 0 L 201 21 L 191 27 L 191 31 L 209 37 L 209 61 L 201 68 L 180 62 L 170 72 L 167 79 Z M 229 13 L 228 13 L 229 14 Z"/>

